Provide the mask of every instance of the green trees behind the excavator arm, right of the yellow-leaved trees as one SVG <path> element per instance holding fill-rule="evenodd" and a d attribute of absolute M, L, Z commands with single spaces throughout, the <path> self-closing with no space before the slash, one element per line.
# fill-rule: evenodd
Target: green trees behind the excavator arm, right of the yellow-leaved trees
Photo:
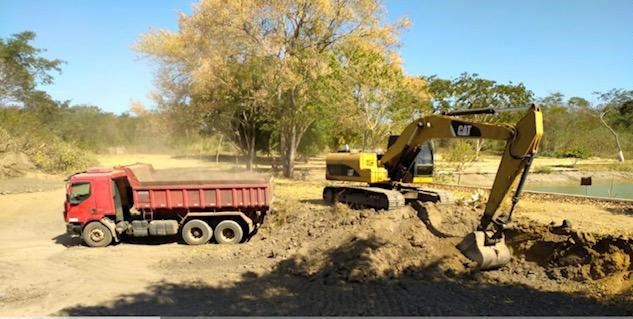
<path fill-rule="evenodd" d="M 426 80 L 434 110 L 539 105 L 544 122 L 540 147 L 542 156 L 615 158 L 620 148 L 625 154 L 633 153 L 633 90 L 595 92 L 597 102 L 592 104 L 585 98 L 567 98 L 559 92 L 535 97 L 522 83 L 500 84 L 482 79 L 477 74 L 464 73 L 454 79 L 431 76 Z M 522 111 L 516 111 L 469 118 L 513 124 L 522 115 Z M 449 152 L 457 148 L 459 153 L 470 158 L 477 158 L 481 151 L 501 152 L 504 147 L 504 143 L 484 140 L 468 143 L 443 141 L 439 145 L 448 148 Z"/>

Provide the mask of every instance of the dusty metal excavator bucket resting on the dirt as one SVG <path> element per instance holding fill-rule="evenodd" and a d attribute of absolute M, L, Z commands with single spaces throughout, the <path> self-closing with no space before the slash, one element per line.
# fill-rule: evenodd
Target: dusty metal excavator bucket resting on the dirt
<path fill-rule="evenodd" d="M 464 256 L 476 262 L 479 269 L 499 268 L 510 261 L 510 250 L 504 238 L 492 245 L 486 245 L 486 234 L 483 231 L 472 232 L 457 245 Z"/>

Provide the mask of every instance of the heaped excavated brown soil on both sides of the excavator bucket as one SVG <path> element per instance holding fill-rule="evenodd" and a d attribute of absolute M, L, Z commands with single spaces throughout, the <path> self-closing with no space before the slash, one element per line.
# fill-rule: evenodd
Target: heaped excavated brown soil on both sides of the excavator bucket
<path fill-rule="evenodd" d="M 450 205 L 424 203 L 417 210 L 357 211 L 337 205 L 321 208 L 320 214 L 294 214 L 286 230 L 294 233 L 284 236 L 297 238 L 294 246 L 289 245 L 294 249 L 287 255 L 294 261 L 293 274 L 326 284 L 450 277 L 520 282 L 552 290 L 561 289 L 561 283 L 567 282 L 563 290 L 586 288 L 609 294 L 629 286 L 633 270 L 631 240 L 573 230 L 557 234 L 547 225 L 521 218 L 515 230 L 507 233 L 514 253 L 512 262 L 500 270 L 472 277 L 475 265 L 458 252 L 455 244 L 479 223 L 485 198 L 475 197 Z M 297 229 L 305 229 L 310 238 L 302 238 Z M 332 254 L 334 248 L 336 253 Z M 573 282 L 590 285 L 583 288 Z"/>

